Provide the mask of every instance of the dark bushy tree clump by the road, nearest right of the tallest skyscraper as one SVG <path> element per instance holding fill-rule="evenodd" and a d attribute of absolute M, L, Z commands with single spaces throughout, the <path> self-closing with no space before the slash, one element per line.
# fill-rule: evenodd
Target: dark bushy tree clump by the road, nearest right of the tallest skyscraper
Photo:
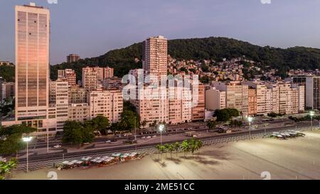
<path fill-rule="evenodd" d="M 84 143 L 91 143 L 95 135 L 95 124 L 92 121 L 85 122 L 65 122 L 63 126 L 63 142 L 71 144 L 79 144 L 79 147 Z"/>

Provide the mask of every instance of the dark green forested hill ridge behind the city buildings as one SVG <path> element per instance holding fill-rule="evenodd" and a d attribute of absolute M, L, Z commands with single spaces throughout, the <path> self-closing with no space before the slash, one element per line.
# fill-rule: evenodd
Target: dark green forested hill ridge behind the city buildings
<path fill-rule="evenodd" d="M 173 58 L 180 60 L 213 59 L 216 61 L 222 61 L 223 58 L 238 58 L 245 55 L 246 58 L 260 63 L 260 68 L 279 69 L 278 74 L 282 77 L 287 76 L 287 70 L 289 69 L 320 69 L 319 49 L 261 47 L 231 38 L 210 37 L 172 40 L 168 42 L 168 53 Z M 86 58 L 76 63 L 53 65 L 51 66 L 50 77 L 55 80 L 58 70 L 71 68 L 77 72 L 77 80 L 81 80 L 81 69 L 87 65 L 110 66 L 114 68 L 114 75 L 122 77 L 130 69 L 142 68 L 141 61 L 136 63 L 134 61 L 135 58 L 142 59 L 142 43 L 135 43 L 127 48 L 111 50 L 105 55 L 96 58 Z M 249 66 L 250 63 L 247 64 L 247 67 Z M 203 70 L 207 70 L 207 68 L 203 66 Z M 249 73 L 250 77 L 255 75 L 255 72 Z"/>

